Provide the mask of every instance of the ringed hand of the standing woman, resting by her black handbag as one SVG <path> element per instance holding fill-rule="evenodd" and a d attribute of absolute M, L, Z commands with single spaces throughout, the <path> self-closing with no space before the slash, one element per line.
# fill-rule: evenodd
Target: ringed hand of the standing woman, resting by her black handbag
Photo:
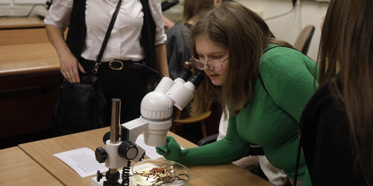
<path fill-rule="evenodd" d="M 78 68 L 82 73 L 86 73 L 83 66 L 78 62 L 75 56 L 70 52 L 58 55 L 60 59 L 60 71 L 70 83 L 80 83 Z"/>

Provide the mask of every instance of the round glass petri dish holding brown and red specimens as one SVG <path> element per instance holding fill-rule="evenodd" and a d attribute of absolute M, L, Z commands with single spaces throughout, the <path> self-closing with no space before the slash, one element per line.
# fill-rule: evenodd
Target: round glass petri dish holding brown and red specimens
<path fill-rule="evenodd" d="M 164 178 L 165 174 L 161 173 L 158 176 L 151 175 L 149 178 L 144 176 L 147 175 L 147 173 L 149 173 L 153 168 L 156 168 L 155 170 L 161 170 L 159 168 L 165 169 L 168 171 L 168 174 L 172 173 L 173 176 L 179 175 L 178 177 L 183 180 L 179 180 L 174 177 L 175 180 L 173 180 L 173 182 L 165 183 L 162 181 L 157 182 L 161 180 L 161 178 Z M 131 176 L 131 182 L 134 186 L 188 186 L 187 183 L 191 176 L 189 169 L 184 165 L 174 161 L 161 159 L 148 159 L 137 162 L 132 166 L 131 171 L 133 173 L 133 176 Z"/>

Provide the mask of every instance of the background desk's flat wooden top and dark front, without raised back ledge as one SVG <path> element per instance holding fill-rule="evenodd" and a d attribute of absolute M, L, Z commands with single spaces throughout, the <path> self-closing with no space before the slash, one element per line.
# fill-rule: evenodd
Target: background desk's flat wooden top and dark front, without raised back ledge
<path fill-rule="evenodd" d="M 50 129 L 56 83 L 62 77 L 53 46 L 0 45 L 0 56 L 1 138 Z M 18 143 L 27 140 L 22 138 Z"/>

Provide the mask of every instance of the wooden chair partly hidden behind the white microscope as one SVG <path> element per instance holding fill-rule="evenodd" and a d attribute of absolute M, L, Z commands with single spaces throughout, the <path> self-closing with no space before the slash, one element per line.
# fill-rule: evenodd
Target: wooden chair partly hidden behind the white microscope
<path fill-rule="evenodd" d="M 189 68 L 190 62 L 185 62 L 184 67 Z M 204 120 L 211 115 L 211 103 L 206 105 L 205 111 L 202 114 L 196 116 L 187 116 L 181 118 L 182 111 L 180 109 L 176 110 L 175 118 L 172 120 L 171 131 L 176 133 L 177 126 L 183 126 L 184 124 L 192 124 L 199 122 L 199 126 L 201 127 L 202 137 L 207 137 L 206 133 L 206 124 Z"/>

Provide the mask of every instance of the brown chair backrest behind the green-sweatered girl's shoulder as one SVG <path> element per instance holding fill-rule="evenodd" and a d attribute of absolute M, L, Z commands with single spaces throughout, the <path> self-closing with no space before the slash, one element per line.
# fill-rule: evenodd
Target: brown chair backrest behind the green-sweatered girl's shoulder
<path fill-rule="evenodd" d="M 302 52 L 304 55 L 307 55 L 309 44 L 311 43 L 314 31 L 315 27 L 313 25 L 304 27 L 303 30 L 300 32 L 298 38 L 296 38 L 293 47 L 296 50 Z"/>

